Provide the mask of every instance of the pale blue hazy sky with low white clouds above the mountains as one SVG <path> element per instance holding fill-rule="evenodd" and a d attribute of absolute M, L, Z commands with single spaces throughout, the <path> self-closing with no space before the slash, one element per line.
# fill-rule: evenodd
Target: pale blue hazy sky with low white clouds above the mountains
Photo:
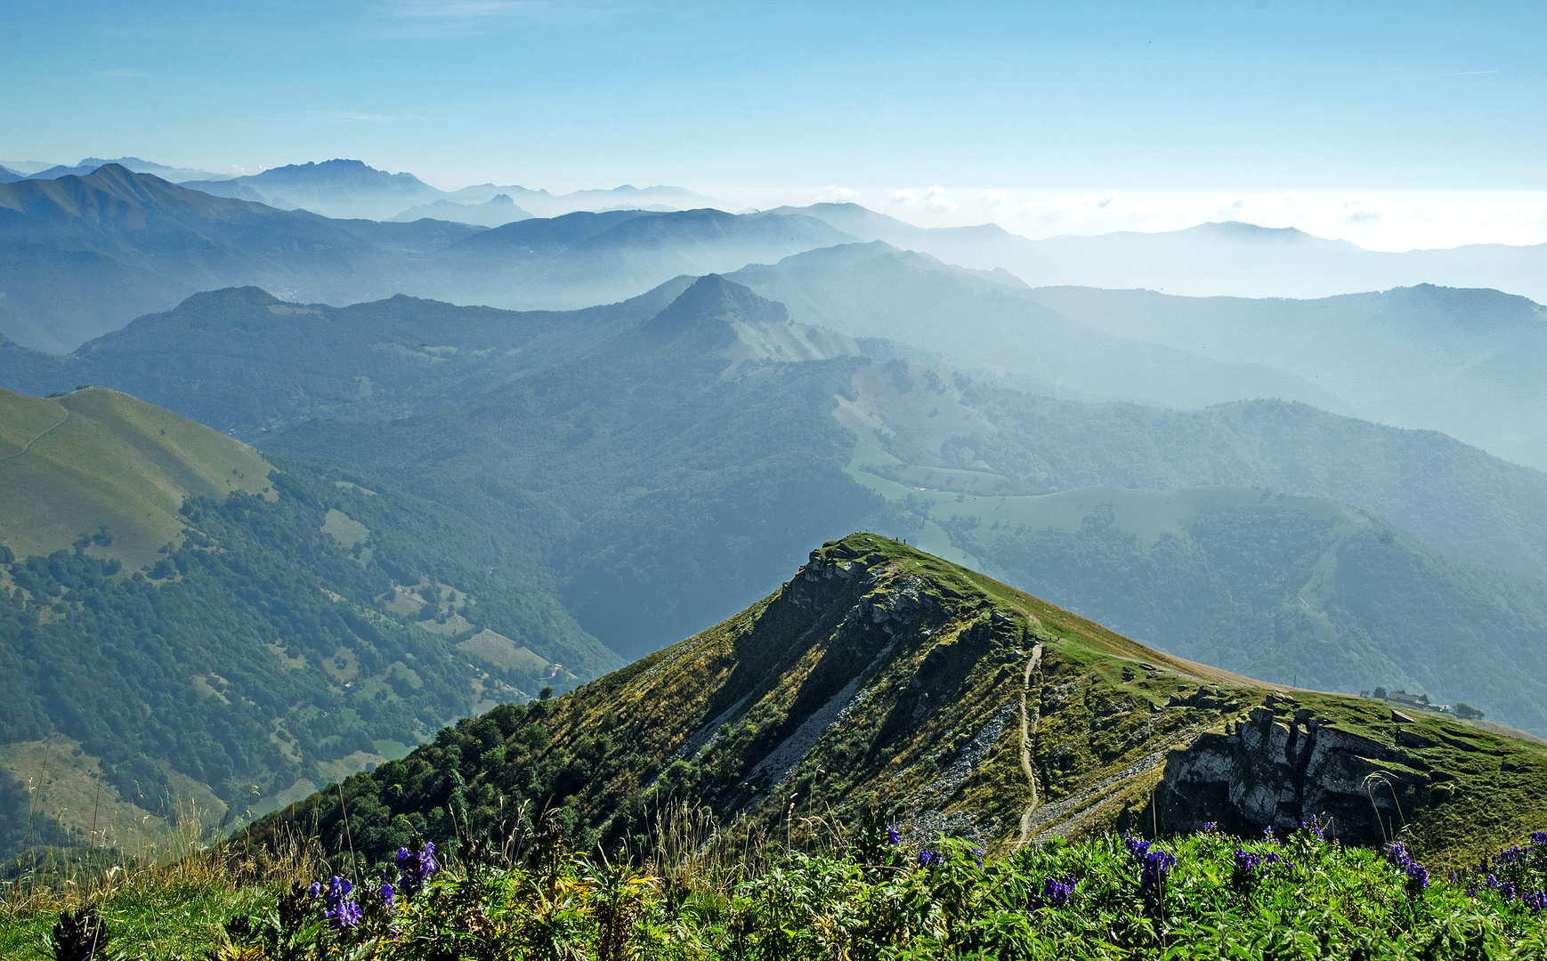
<path fill-rule="evenodd" d="M 1347 203 L 1440 190 L 1463 221 L 1490 192 L 1528 232 L 1544 26 L 1539 3 L 29 3 L 0 25 L 0 159 L 831 186 L 916 220 L 1293 193 L 1354 234 L 1381 214 Z"/>

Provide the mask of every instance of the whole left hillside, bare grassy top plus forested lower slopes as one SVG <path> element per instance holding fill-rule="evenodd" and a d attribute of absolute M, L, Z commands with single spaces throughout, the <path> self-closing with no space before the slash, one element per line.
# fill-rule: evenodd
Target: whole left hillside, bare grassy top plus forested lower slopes
<path fill-rule="evenodd" d="M 238 816 L 620 664 L 560 604 L 566 522 L 531 495 L 271 463 L 101 388 L 6 396 L 0 744 L 31 747 L 5 785 L 46 746 L 101 763 L 110 806 Z"/>

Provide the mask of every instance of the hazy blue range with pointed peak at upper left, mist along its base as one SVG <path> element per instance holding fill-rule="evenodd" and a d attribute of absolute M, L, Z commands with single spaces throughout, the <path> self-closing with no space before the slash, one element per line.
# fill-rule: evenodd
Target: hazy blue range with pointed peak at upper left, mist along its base
<path fill-rule="evenodd" d="M 243 187 L 240 180 L 223 183 Z M 404 193 L 418 190 L 391 183 Z M 486 231 L 438 220 L 328 220 L 212 197 L 116 164 L 87 176 L 0 184 L 0 336 L 63 354 L 193 291 L 232 285 L 331 303 L 404 292 L 568 310 L 639 296 L 678 274 L 849 240 L 808 217 L 627 210 L 558 220 L 551 227 L 506 224 L 506 232 L 463 248 Z M 640 223 L 625 227 L 630 220 Z M 610 235 L 608 227 L 620 231 Z"/>

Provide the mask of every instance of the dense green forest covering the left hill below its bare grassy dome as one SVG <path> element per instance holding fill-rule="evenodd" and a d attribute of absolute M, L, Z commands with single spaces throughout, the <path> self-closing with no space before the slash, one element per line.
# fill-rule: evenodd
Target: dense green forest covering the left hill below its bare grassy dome
<path fill-rule="evenodd" d="M 125 800 L 162 811 L 173 800 L 164 764 L 227 802 L 254 783 L 323 783 L 319 763 L 384 743 L 405 749 L 480 698 L 521 699 L 617 664 L 529 576 L 509 500 L 449 484 L 432 504 L 300 464 L 271 484 L 272 498 L 187 500 L 183 543 L 149 571 L 93 557 L 90 537 L 50 557 L 9 557 L 0 738 L 63 732 L 104 758 Z M 340 508 L 370 528 L 364 542 L 323 532 Z M 415 617 L 387 610 L 394 582 L 452 585 L 469 630 L 421 625 L 452 613 L 439 596 Z M 549 679 L 473 667 L 453 645 L 481 628 L 566 669 Z"/>

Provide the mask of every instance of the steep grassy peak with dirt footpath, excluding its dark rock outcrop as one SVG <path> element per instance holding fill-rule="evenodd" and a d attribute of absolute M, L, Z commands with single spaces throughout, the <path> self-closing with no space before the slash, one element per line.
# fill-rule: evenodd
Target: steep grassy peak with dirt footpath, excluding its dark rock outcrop
<path fill-rule="evenodd" d="M 1038 639 L 1044 653 L 1029 673 Z M 1204 686 L 1217 706 L 1168 706 Z M 1282 689 L 854 534 L 741 614 L 551 704 L 447 729 L 343 789 L 354 845 L 373 859 L 401 843 L 398 833 L 446 840 L 447 805 L 475 831 L 506 829 L 524 809 L 603 845 L 637 840 L 673 802 L 709 805 L 732 831 L 794 837 L 815 831 L 812 819 L 848 823 L 880 806 L 914 837 L 944 829 L 1004 845 L 1033 800 L 1019 760 L 1023 690 L 1033 839 L 1151 820 L 1163 831 L 1171 814 L 1146 811 L 1168 751 L 1259 706 L 1286 710 L 1269 696 Z M 1381 704 L 1293 696 L 1327 726 L 1391 741 Z M 1428 716 L 1412 730 L 1433 744 L 1381 763 L 1437 772 L 1397 786 L 1425 856 L 1450 864 L 1539 826 L 1541 746 Z M 336 795 L 260 822 L 254 837 L 278 837 L 286 823 L 317 823 L 326 845 L 345 843 Z"/>

